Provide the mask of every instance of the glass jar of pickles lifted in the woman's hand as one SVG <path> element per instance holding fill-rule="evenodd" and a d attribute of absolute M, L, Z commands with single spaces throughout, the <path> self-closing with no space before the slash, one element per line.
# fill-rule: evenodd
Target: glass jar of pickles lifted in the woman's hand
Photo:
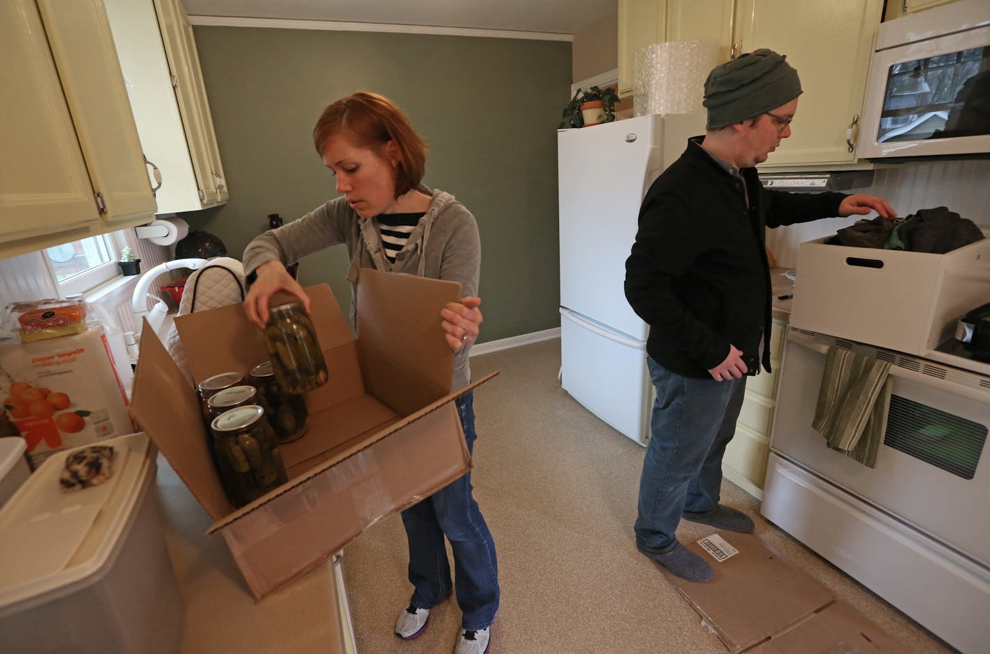
<path fill-rule="evenodd" d="M 292 300 L 268 312 L 264 344 L 282 391 L 301 395 L 326 384 L 327 363 L 302 302 Z"/>

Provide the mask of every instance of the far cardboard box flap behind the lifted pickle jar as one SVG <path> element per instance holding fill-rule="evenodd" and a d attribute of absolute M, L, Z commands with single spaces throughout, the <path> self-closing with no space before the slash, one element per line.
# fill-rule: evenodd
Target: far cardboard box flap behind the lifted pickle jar
<path fill-rule="evenodd" d="M 306 293 L 321 349 L 326 352 L 351 342 L 353 336 L 330 286 L 310 286 Z M 261 330 L 247 320 L 240 304 L 178 316 L 175 328 L 197 383 L 231 370 L 247 374 L 251 367 L 268 360 Z M 234 343 L 237 347 L 218 347 Z"/>

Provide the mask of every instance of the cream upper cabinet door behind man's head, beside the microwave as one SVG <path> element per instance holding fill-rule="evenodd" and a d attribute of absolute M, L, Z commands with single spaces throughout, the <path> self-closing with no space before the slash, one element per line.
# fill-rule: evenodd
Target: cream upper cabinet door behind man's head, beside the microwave
<path fill-rule="evenodd" d="M 736 42 L 742 51 L 769 47 L 787 55 L 804 93 L 793 135 L 765 166 L 850 163 L 847 130 L 858 121 L 883 0 L 805 2 L 740 0 Z M 856 142 L 858 123 L 852 126 Z"/>

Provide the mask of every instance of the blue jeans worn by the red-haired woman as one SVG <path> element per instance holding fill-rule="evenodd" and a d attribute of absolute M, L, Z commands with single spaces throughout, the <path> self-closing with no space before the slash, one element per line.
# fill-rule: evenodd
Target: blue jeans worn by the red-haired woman
<path fill-rule="evenodd" d="M 467 450 L 474 449 L 474 396 L 455 401 L 464 427 Z M 431 608 L 450 594 L 450 564 L 444 536 L 453 550 L 454 590 L 465 629 L 484 629 L 498 611 L 498 562 L 495 542 L 478 504 L 471 497 L 468 472 L 417 505 L 402 512 L 409 539 L 409 581 L 415 587 L 410 604 Z"/>

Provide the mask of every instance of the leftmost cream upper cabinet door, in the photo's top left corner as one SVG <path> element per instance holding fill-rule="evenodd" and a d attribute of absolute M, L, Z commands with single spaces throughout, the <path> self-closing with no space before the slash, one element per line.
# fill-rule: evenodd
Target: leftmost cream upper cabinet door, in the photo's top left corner
<path fill-rule="evenodd" d="M 88 233 L 100 215 L 34 0 L 0 3 L 0 84 L 0 240 Z"/>

